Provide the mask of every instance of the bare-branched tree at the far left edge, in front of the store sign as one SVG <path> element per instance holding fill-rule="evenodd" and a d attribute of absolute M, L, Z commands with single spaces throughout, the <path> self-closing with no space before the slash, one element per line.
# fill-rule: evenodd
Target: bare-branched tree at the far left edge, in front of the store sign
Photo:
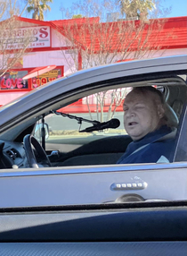
<path fill-rule="evenodd" d="M 0 77 L 25 55 L 29 44 L 27 33 L 22 38 L 18 37 L 20 21 L 14 16 L 18 13 L 16 4 L 16 0 L 0 3 Z"/>

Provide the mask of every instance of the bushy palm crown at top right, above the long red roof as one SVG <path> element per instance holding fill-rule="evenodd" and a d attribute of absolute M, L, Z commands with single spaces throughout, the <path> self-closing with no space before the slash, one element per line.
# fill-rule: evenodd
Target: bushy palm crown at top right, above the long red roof
<path fill-rule="evenodd" d="M 126 14 L 126 19 L 147 18 L 148 12 L 156 8 L 154 0 L 118 0 L 118 3 L 121 13 Z"/>

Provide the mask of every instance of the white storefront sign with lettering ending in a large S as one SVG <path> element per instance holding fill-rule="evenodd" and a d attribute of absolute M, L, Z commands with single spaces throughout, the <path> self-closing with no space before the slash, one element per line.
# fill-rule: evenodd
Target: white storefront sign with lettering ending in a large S
<path fill-rule="evenodd" d="M 22 28 L 19 30 L 4 31 L 0 43 L 6 45 L 6 49 L 18 49 L 25 47 L 51 47 L 50 45 L 50 27 L 39 26 Z"/>

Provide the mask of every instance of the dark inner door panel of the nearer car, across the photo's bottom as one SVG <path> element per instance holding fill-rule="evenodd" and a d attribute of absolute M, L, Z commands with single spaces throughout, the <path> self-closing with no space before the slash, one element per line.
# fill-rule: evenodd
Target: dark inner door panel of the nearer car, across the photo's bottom
<path fill-rule="evenodd" d="M 0 209 L 4 255 L 186 255 L 187 204 Z"/>

